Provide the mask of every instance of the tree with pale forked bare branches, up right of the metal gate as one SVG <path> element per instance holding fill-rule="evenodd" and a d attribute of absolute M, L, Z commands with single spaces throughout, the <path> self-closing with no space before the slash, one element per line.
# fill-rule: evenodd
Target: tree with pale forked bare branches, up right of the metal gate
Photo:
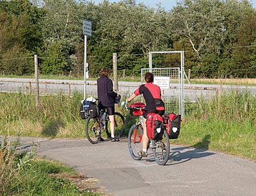
<path fill-rule="evenodd" d="M 198 58 L 204 52 L 220 52 L 225 38 L 220 0 L 180 1 L 170 14 L 173 36 L 186 38 Z"/>

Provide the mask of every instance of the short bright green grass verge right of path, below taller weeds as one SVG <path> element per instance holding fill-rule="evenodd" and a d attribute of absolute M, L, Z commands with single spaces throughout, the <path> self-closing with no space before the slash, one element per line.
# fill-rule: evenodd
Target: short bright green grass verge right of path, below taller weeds
<path fill-rule="evenodd" d="M 221 119 L 202 119 L 196 123 L 186 119 L 179 139 L 174 144 L 186 144 L 213 149 L 256 160 L 256 125 L 250 120 L 227 122 Z"/>

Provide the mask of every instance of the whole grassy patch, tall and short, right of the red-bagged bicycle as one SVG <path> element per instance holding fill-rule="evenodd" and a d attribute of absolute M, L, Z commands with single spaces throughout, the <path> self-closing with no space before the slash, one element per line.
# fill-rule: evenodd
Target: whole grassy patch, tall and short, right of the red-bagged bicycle
<path fill-rule="evenodd" d="M 256 98 L 247 91 L 221 94 L 216 100 L 200 100 L 182 123 L 173 143 L 218 149 L 256 160 Z M 196 109 L 195 109 L 196 108 Z"/>

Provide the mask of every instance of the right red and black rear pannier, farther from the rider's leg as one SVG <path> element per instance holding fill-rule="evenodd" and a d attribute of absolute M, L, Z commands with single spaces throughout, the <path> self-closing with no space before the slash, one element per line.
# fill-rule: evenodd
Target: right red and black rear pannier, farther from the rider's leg
<path fill-rule="evenodd" d="M 174 113 L 164 114 L 164 125 L 169 139 L 177 139 L 180 134 L 181 116 Z"/>

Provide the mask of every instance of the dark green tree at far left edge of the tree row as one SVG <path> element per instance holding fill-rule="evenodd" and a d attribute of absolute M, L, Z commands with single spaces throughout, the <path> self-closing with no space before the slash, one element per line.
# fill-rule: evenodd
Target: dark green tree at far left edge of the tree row
<path fill-rule="evenodd" d="M 0 1 L 1 72 L 23 75 L 33 71 L 31 57 L 41 45 L 41 12 L 29 0 Z"/>

